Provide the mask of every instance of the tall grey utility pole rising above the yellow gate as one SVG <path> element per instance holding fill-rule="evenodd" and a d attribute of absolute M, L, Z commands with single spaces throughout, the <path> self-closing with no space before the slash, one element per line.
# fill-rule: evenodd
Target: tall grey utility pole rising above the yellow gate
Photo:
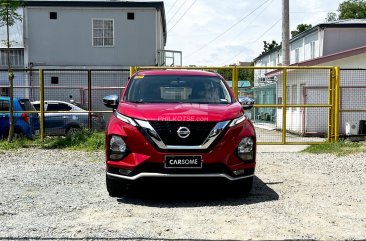
<path fill-rule="evenodd" d="M 290 65 L 289 0 L 282 0 L 282 65 Z"/>

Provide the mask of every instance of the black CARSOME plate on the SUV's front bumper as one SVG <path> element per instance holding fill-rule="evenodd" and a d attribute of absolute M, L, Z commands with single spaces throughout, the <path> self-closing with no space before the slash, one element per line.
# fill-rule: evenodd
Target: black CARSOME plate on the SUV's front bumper
<path fill-rule="evenodd" d="M 202 168 L 202 156 L 165 156 L 165 168 Z"/>

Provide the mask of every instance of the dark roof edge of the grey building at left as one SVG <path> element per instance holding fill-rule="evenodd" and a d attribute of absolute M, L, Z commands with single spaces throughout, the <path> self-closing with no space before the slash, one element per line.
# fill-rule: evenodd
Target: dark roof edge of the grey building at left
<path fill-rule="evenodd" d="M 25 7 L 73 7 L 73 8 L 155 8 L 160 12 L 164 44 L 167 41 L 167 29 L 164 2 L 126 2 L 126 1 L 24 1 Z"/>

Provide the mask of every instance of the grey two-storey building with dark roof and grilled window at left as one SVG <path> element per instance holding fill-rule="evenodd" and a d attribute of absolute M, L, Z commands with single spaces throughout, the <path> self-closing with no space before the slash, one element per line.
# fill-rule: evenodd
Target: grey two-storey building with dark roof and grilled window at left
<path fill-rule="evenodd" d="M 69 95 L 83 99 L 81 87 L 88 84 L 87 69 L 111 69 L 93 75 L 93 86 L 123 86 L 130 66 L 166 65 L 167 29 L 164 3 L 129 1 L 25 1 L 19 10 L 23 20 L 11 28 L 15 40 L 11 63 L 15 69 L 45 69 L 44 83 L 58 91 L 46 98 L 68 100 Z M 5 27 L 0 37 L 6 38 Z M 8 85 L 5 46 L 0 50 L 0 93 Z M 176 51 L 173 51 L 176 52 Z M 168 58 L 168 60 L 173 61 Z M 177 65 L 180 63 L 174 63 Z M 77 71 L 54 71 L 73 69 Z M 100 76 L 100 77 L 98 77 Z M 16 86 L 38 86 L 38 72 L 17 72 Z M 65 89 L 65 86 L 76 86 Z M 80 87 L 80 88 L 79 88 Z M 64 89 L 62 89 L 64 88 Z M 78 88 L 78 89 L 77 89 Z M 84 88 L 85 89 L 85 88 Z M 30 88 L 16 88 L 15 95 L 31 97 Z M 70 92 L 70 94 L 66 94 Z M 36 93 L 36 91 L 35 91 Z M 104 93 L 108 93 L 105 91 Z M 48 95 L 48 96 L 47 96 Z M 101 94 L 102 95 L 102 94 Z M 99 96 L 98 96 L 99 98 Z M 84 98 L 85 99 L 85 98 Z"/>

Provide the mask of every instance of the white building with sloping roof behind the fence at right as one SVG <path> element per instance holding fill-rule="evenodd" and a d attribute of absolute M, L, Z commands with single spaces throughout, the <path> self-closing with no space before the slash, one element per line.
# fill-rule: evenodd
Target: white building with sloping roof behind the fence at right
<path fill-rule="evenodd" d="M 319 24 L 290 40 L 290 66 L 340 66 L 341 69 L 366 68 L 366 20 L 344 20 Z M 255 66 L 280 66 L 281 46 L 262 54 Z M 350 71 L 350 70 L 349 70 Z M 349 76 L 341 70 L 340 133 L 346 123 L 366 119 L 362 109 L 366 103 L 366 71 Z M 283 84 L 280 71 L 257 70 L 255 84 L 276 81 L 276 103 L 282 104 Z M 329 71 L 291 70 L 287 73 L 287 104 L 328 104 Z M 261 103 L 258 103 L 261 104 Z M 267 103 L 268 104 L 268 103 Z M 363 107 L 364 109 L 364 107 Z M 324 134 L 328 129 L 327 108 L 290 107 L 286 112 L 287 130 L 301 135 Z M 275 111 L 274 126 L 282 129 L 282 109 Z"/>

